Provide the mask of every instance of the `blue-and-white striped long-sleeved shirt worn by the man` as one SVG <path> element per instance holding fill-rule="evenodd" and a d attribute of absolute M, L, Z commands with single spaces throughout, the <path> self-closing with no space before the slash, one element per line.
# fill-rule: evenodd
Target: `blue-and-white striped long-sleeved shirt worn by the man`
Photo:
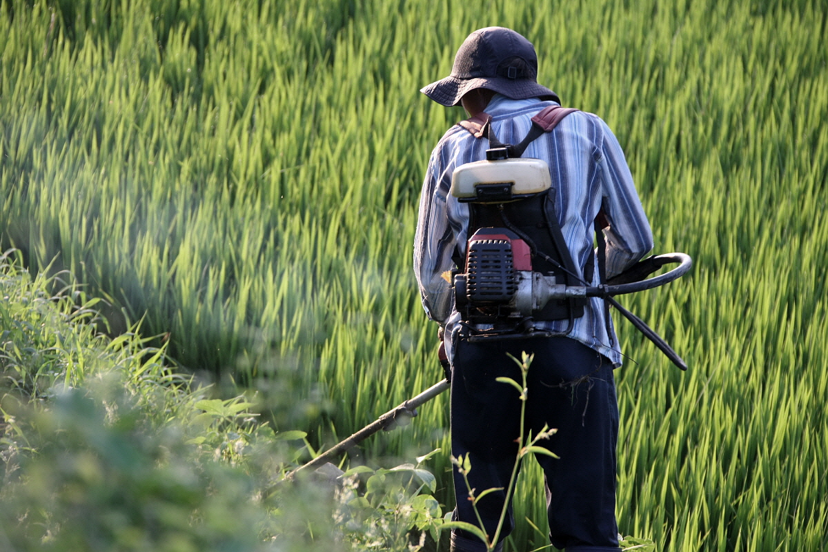
<path fill-rule="evenodd" d="M 555 104 L 538 98 L 513 100 L 497 94 L 486 113 L 492 116 L 492 131 L 500 142 L 514 144 L 529 132 L 533 115 Z M 449 358 L 460 330 L 460 313 L 455 310 L 452 286 L 444 274 L 454 267 L 451 256 L 455 247 L 465 256 L 469 238 L 469 205 L 450 195 L 451 175 L 457 166 L 485 159 L 488 148 L 485 138 L 475 138 L 456 125 L 451 127 L 431 152 L 422 187 L 414 271 L 426 314 L 445 329 Z M 556 189 L 558 223 L 579 267 L 579 276 L 583 276 L 590 256 L 595 256 L 593 221 L 602 207 L 609 221 L 609 228 L 604 229 L 607 277 L 632 266 L 652 249 L 652 232 L 633 176 L 618 140 L 600 118 L 591 113 L 571 113 L 555 130 L 530 143 L 523 157 L 543 159 L 549 164 L 552 186 Z M 596 270 L 592 285 L 598 284 Z M 553 332 L 565 332 L 569 325 L 568 319 L 535 324 L 537 329 Z M 612 321 L 604 319 L 603 300 L 590 299 L 585 314 L 575 319 L 568 337 L 620 366 L 618 339 Z"/>

